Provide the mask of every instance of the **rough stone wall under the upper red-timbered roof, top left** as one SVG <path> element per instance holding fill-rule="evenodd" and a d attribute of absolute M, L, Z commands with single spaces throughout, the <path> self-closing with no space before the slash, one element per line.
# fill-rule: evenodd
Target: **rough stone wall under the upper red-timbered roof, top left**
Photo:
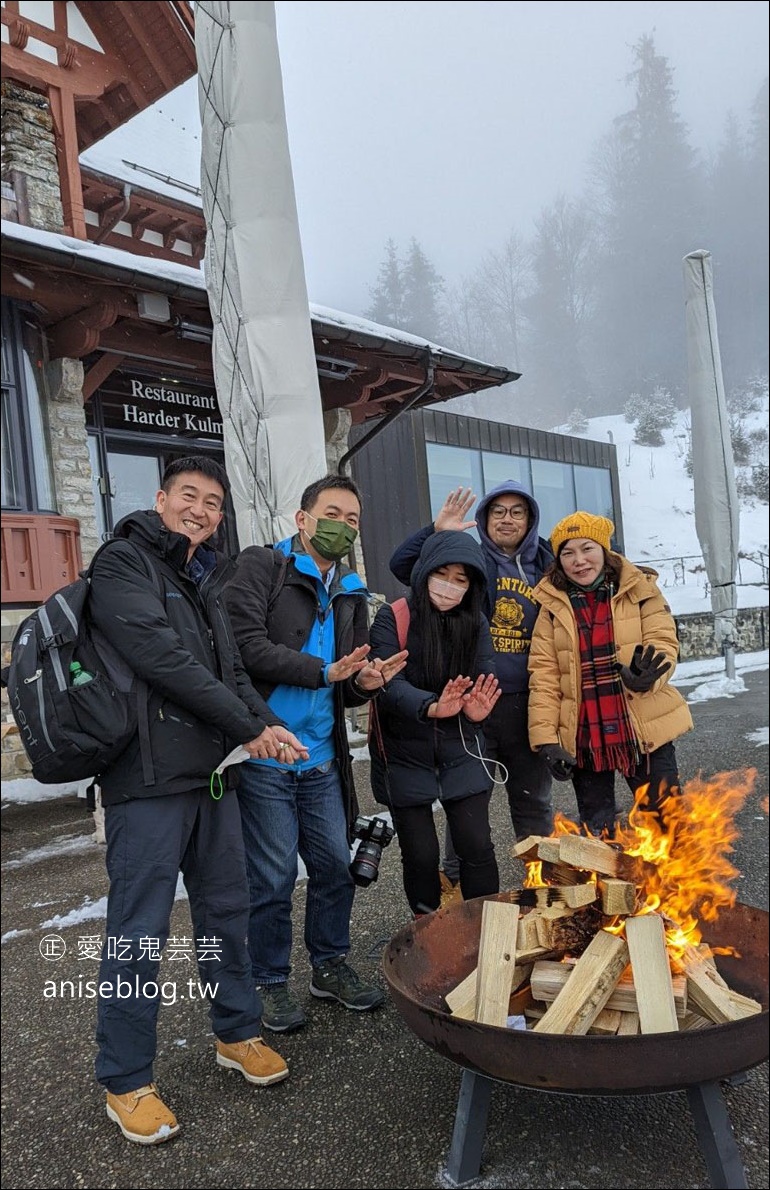
<path fill-rule="evenodd" d="M 54 120 L 45 95 L 4 79 L 0 144 L 2 181 L 12 183 L 14 171 L 24 175 L 30 225 L 62 231 L 64 217 Z"/>

